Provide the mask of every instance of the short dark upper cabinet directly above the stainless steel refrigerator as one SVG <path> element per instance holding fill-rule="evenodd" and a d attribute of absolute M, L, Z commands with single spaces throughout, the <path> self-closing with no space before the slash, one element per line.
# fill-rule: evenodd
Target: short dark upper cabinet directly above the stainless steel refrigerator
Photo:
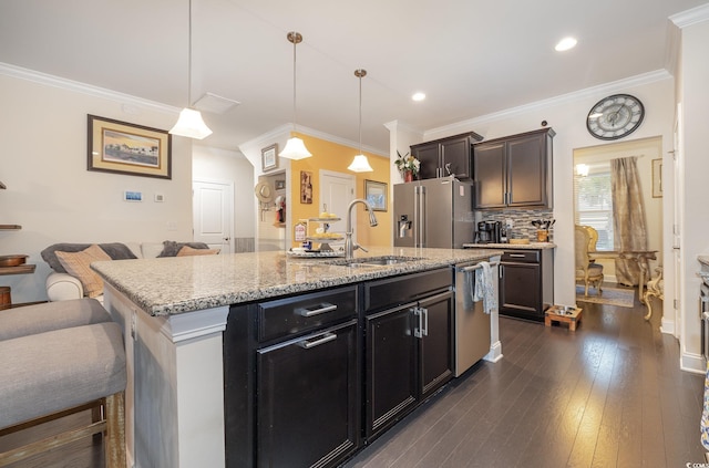
<path fill-rule="evenodd" d="M 474 142 L 482 136 L 474 132 L 411 146 L 411 154 L 421 162 L 419 177 L 434 179 L 454 175 L 460 180 L 471 178 L 471 156 Z"/>

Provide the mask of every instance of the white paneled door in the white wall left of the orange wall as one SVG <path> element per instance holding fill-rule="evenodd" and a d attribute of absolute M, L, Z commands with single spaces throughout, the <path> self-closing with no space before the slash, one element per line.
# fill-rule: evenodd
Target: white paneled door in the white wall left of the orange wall
<path fill-rule="evenodd" d="M 220 249 L 223 254 L 232 253 L 234 184 L 193 180 L 192 194 L 195 241 L 204 242 L 212 249 Z"/>

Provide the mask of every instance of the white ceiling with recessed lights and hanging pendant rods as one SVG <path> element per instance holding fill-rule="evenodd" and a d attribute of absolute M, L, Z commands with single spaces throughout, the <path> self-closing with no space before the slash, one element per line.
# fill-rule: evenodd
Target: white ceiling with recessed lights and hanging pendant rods
<path fill-rule="evenodd" d="M 706 0 L 192 0 L 192 100 L 204 141 L 236 148 L 292 122 L 388 153 L 383 124 L 427 131 L 666 66 L 668 17 Z M 554 44 L 575 35 L 565 53 Z M 0 62 L 183 107 L 188 0 L 2 0 Z M 428 98 L 411 101 L 423 91 Z M 176 115 L 175 115 L 176 118 Z"/>

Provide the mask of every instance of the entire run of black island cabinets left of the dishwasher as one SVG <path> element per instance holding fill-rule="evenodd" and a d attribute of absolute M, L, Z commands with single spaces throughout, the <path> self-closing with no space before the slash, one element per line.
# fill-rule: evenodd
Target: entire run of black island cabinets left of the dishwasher
<path fill-rule="evenodd" d="M 453 376 L 450 268 L 233 306 L 226 466 L 341 465 Z"/>

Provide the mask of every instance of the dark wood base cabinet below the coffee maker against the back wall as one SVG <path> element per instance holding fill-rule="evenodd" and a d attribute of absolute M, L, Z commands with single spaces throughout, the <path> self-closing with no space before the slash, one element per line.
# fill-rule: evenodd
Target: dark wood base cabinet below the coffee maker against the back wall
<path fill-rule="evenodd" d="M 500 313 L 544 321 L 554 303 L 553 250 L 506 250 L 500 266 Z"/>

